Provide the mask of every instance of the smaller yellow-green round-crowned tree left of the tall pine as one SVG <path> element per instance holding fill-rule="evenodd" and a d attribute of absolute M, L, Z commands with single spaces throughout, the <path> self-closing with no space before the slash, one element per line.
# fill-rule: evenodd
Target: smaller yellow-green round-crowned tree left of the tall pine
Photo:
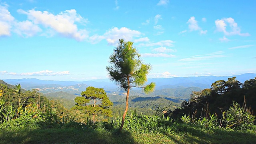
<path fill-rule="evenodd" d="M 72 109 L 84 110 L 85 113 L 92 115 L 95 122 L 95 115 L 111 116 L 112 111 L 109 109 L 113 103 L 109 100 L 103 88 L 94 88 L 89 86 L 86 91 L 81 93 L 82 97 L 76 97 L 76 106 Z"/>

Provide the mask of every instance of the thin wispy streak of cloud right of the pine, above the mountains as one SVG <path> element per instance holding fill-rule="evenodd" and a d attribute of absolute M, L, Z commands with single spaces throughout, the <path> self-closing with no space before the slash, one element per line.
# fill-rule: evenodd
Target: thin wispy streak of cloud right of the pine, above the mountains
<path fill-rule="evenodd" d="M 191 61 L 208 60 L 208 59 L 212 59 L 212 58 L 221 58 L 221 57 L 224 57 L 224 55 L 221 55 L 222 53 L 223 53 L 222 51 L 218 51 L 218 52 L 214 52 L 211 54 L 196 55 L 196 56 L 192 56 L 191 58 L 183 58 L 178 61 L 191 62 Z"/>

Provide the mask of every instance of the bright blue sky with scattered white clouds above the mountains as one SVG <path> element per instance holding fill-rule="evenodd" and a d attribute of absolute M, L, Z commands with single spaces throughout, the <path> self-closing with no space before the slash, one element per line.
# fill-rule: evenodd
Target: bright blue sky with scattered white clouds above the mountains
<path fill-rule="evenodd" d="M 0 79 L 107 79 L 118 39 L 148 78 L 256 73 L 255 0 L 0 0 Z"/>

